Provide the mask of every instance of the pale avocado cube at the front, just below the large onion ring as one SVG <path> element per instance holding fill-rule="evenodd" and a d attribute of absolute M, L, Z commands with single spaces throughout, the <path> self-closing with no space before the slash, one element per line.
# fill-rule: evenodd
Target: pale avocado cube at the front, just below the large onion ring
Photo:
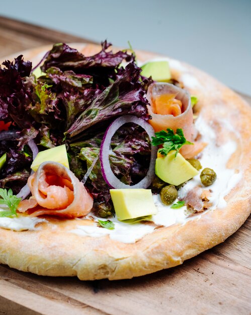
<path fill-rule="evenodd" d="M 110 189 L 110 193 L 119 220 L 157 213 L 150 189 Z"/>

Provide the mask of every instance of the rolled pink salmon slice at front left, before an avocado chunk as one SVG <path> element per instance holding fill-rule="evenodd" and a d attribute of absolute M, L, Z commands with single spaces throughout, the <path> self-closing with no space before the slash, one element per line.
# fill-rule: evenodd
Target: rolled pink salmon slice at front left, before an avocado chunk
<path fill-rule="evenodd" d="M 93 198 L 75 175 L 56 162 L 44 162 L 28 179 L 32 198 L 20 202 L 18 210 L 34 211 L 31 216 L 43 214 L 79 217 L 88 214 Z"/>

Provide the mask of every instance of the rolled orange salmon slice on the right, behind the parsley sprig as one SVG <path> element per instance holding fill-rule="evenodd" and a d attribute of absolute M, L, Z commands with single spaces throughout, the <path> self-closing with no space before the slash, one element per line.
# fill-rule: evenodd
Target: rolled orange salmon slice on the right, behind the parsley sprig
<path fill-rule="evenodd" d="M 164 104 L 162 104 L 160 108 L 157 106 L 157 102 L 161 98 L 161 102 L 163 103 L 165 96 L 166 108 L 163 109 Z M 173 101 L 170 100 L 170 96 L 172 96 Z M 146 97 L 150 103 L 150 105 L 147 105 L 148 114 L 152 117 L 148 122 L 155 132 L 166 130 L 167 128 L 171 128 L 176 132 L 178 128 L 181 128 L 185 138 L 193 142 L 193 110 L 191 96 L 188 91 L 170 83 L 159 82 L 152 83 L 149 86 Z M 182 105 L 180 106 L 180 104 Z M 162 114 L 163 112 L 169 112 L 169 114 Z M 201 142 L 195 142 L 194 145 L 184 145 L 180 152 L 186 159 L 191 159 L 191 157 L 197 155 L 205 145 L 206 143 Z"/>

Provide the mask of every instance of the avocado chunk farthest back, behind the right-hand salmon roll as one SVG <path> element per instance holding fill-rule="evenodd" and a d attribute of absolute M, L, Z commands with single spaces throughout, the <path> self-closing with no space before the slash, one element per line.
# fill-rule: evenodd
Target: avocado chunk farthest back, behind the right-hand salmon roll
<path fill-rule="evenodd" d="M 149 77 L 158 82 L 168 82 L 171 79 L 171 71 L 168 61 L 151 61 L 142 66 L 140 73 L 143 76 Z"/>

